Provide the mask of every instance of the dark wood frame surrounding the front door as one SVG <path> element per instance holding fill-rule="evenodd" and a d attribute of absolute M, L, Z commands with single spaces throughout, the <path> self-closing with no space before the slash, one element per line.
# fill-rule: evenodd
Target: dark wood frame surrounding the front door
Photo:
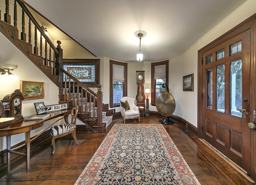
<path fill-rule="evenodd" d="M 202 97 L 206 94 L 205 90 L 202 89 L 202 54 L 244 32 L 245 30 L 250 30 L 250 79 L 252 79 L 250 82 L 250 110 L 256 110 L 256 14 L 254 14 L 198 51 L 198 138 L 202 138 L 202 109 L 203 106 L 205 106 L 202 104 Z M 250 120 L 253 120 L 253 114 L 250 114 Z M 250 176 L 254 181 L 256 181 L 256 130 L 250 130 L 250 140 Z"/>

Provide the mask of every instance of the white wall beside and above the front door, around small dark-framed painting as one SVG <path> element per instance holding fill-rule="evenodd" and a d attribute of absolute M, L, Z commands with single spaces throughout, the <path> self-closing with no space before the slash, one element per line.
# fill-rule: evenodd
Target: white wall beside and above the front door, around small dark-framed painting
<path fill-rule="evenodd" d="M 182 55 L 169 59 L 169 89 L 176 101 L 174 115 L 197 127 L 198 50 L 256 13 L 256 1 L 248 0 L 209 31 Z M 194 92 L 183 91 L 183 76 L 194 73 Z"/>

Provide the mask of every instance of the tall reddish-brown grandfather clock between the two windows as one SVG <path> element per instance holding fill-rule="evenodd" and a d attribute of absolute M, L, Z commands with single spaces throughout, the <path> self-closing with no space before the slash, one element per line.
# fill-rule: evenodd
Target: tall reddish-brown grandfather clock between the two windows
<path fill-rule="evenodd" d="M 136 71 L 136 80 L 138 85 L 136 100 L 137 100 L 137 106 L 143 106 L 145 107 L 145 99 L 146 96 L 144 94 L 144 82 L 145 82 L 145 71 Z"/>

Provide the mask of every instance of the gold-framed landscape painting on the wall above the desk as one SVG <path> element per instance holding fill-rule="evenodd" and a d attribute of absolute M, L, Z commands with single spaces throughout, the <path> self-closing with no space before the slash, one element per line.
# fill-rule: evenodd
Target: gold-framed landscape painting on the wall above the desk
<path fill-rule="evenodd" d="M 20 91 L 24 100 L 44 98 L 44 82 L 20 81 Z"/>

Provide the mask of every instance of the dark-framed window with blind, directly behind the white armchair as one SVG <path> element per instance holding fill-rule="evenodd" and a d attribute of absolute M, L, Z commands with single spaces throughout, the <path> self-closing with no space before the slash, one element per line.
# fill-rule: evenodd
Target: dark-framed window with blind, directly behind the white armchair
<path fill-rule="evenodd" d="M 110 60 L 110 107 L 120 106 L 119 99 L 127 96 L 127 63 Z"/>

